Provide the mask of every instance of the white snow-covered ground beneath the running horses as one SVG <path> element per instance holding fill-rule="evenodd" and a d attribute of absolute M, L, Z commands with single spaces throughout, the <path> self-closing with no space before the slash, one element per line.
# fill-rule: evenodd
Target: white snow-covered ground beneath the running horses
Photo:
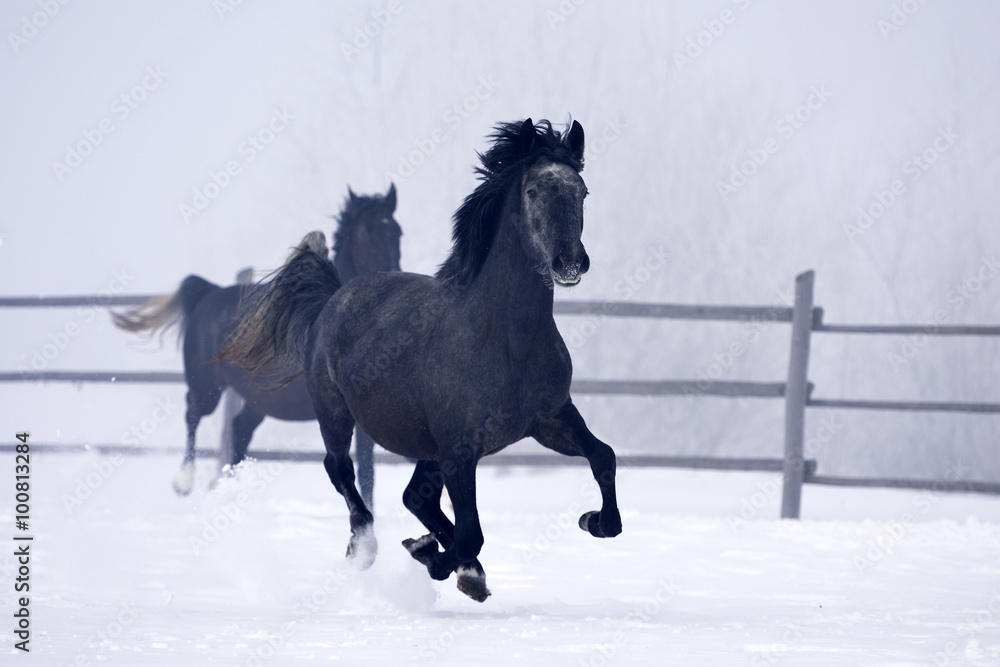
<path fill-rule="evenodd" d="M 623 469 L 624 532 L 597 540 L 575 525 L 586 467 L 486 468 L 478 604 L 399 545 L 421 534 L 405 467 L 378 469 L 380 554 L 356 572 L 320 465 L 250 462 L 207 491 L 203 461 L 180 499 L 177 459 L 34 458 L 32 651 L 5 629 L 0 662 L 1000 664 L 997 498 L 806 487 L 806 519 L 777 521 L 775 475 Z"/>

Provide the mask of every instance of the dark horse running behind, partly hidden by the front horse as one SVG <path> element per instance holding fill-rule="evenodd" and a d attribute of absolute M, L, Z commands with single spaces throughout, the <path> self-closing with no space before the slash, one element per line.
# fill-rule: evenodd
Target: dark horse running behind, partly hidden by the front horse
<path fill-rule="evenodd" d="M 393 214 L 396 187 L 385 196 L 357 196 L 348 188 L 348 198 L 337 216 L 334 263 L 347 282 L 360 275 L 399 271 L 399 239 L 402 234 Z M 318 249 L 317 249 L 318 250 Z M 325 248 L 324 248 L 325 251 Z M 114 323 L 127 331 L 155 331 L 179 325 L 184 343 L 184 377 L 187 381 L 187 447 L 174 490 L 191 492 L 194 484 L 195 432 L 198 423 L 212 414 L 222 391 L 228 386 L 243 399 L 243 409 L 232 421 L 232 459 L 236 465 L 246 456 L 254 430 L 264 417 L 290 421 L 316 419 L 312 400 L 294 363 L 278 365 L 268 375 L 254 375 L 227 363 L 212 360 L 236 328 L 239 304 L 249 286 L 219 287 L 199 276 L 188 276 L 173 295 L 151 299 L 128 313 L 113 313 Z M 282 386 L 283 385 L 283 386 Z M 280 387 L 275 389 L 275 387 Z M 358 456 L 362 471 L 371 470 L 373 443 L 358 430 Z M 362 475 L 365 498 L 371 502 L 373 480 Z"/>

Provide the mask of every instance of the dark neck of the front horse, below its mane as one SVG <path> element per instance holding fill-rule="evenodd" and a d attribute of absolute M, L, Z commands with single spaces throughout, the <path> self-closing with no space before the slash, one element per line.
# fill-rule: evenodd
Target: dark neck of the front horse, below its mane
<path fill-rule="evenodd" d="M 515 225 L 516 218 L 505 214 L 470 296 L 486 326 L 509 340 L 533 344 L 540 331 L 550 330 L 552 289 L 525 255 Z"/>

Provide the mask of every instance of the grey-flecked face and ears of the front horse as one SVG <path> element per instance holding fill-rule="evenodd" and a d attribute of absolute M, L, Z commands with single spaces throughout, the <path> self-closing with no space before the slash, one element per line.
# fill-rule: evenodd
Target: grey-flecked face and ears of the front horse
<path fill-rule="evenodd" d="M 531 119 L 521 125 L 520 149 L 535 148 Z M 563 137 L 561 150 L 545 151 L 525 166 L 521 178 L 520 205 L 526 252 L 537 261 L 538 271 L 558 285 L 570 287 L 590 268 L 590 258 L 580 239 L 583 234 L 583 200 L 587 186 L 578 165 L 583 163 L 583 126 L 573 121 Z"/>

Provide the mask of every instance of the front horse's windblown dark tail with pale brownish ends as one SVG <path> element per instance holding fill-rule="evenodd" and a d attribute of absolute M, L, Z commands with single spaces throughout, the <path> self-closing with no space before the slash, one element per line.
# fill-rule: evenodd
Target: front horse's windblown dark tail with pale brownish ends
<path fill-rule="evenodd" d="M 239 327 L 216 358 L 254 373 L 301 369 L 313 322 L 340 285 L 326 236 L 307 234 L 280 269 L 246 291 Z"/>

